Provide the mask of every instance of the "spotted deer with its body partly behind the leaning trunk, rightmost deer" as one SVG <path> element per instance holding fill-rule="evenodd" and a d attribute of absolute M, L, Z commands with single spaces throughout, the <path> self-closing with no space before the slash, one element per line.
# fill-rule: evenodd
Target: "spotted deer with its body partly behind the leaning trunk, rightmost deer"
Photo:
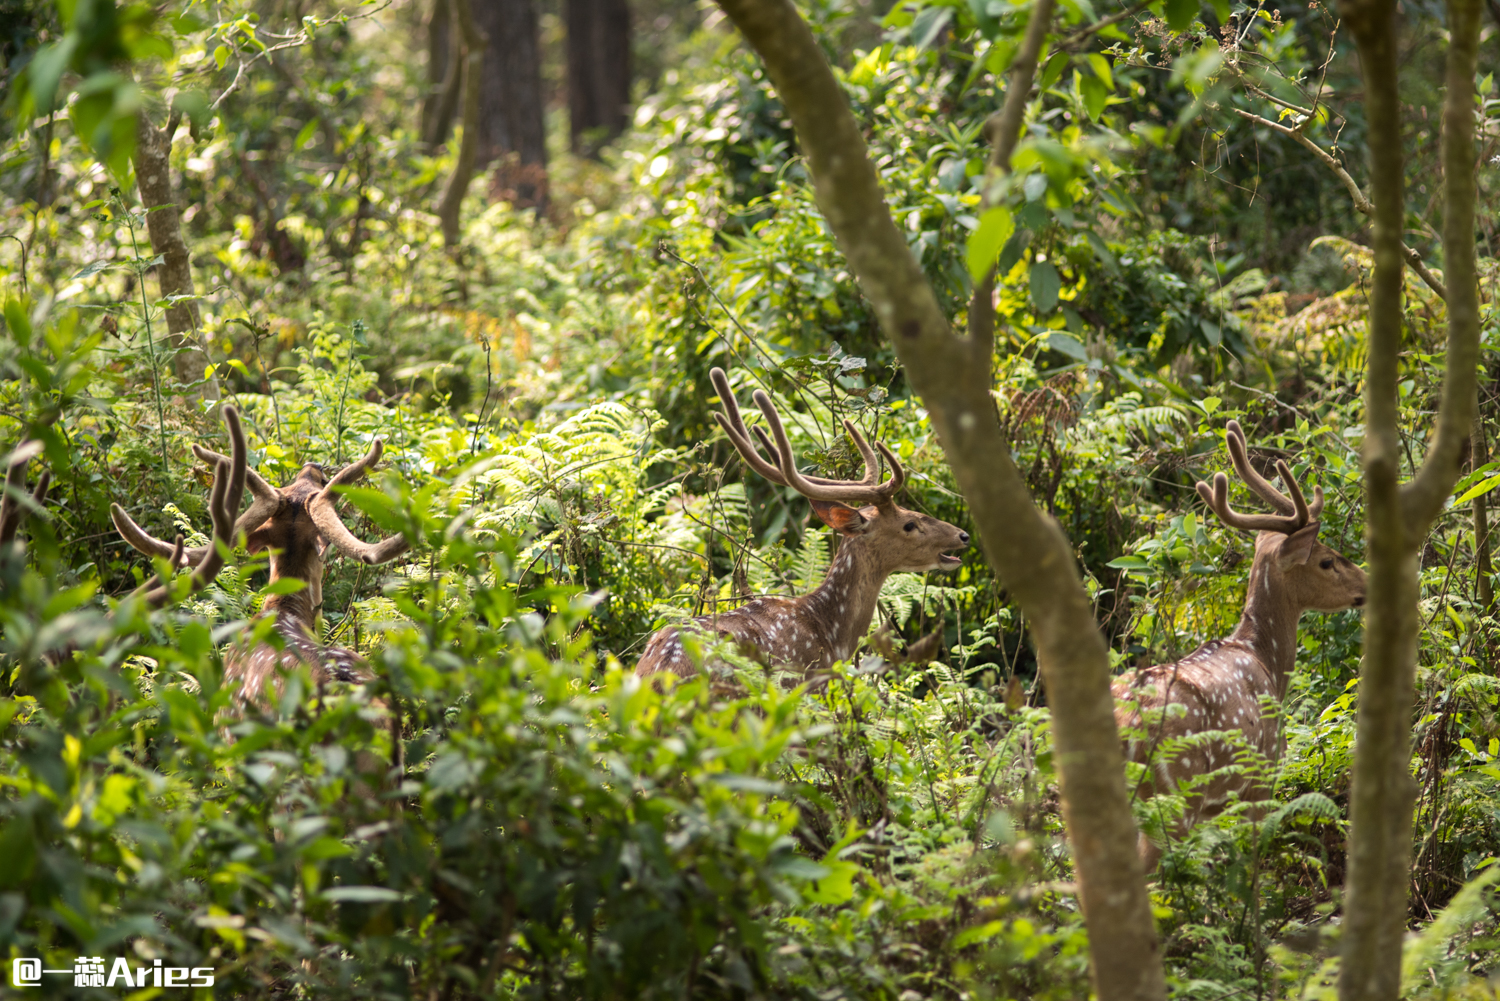
<path fill-rule="evenodd" d="M 1230 420 L 1226 432 L 1230 459 L 1240 479 L 1274 515 L 1242 515 L 1228 506 L 1228 477 L 1214 474 L 1214 486 L 1198 483 L 1198 495 L 1230 528 L 1256 531 L 1256 558 L 1239 626 L 1224 639 L 1206 642 L 1176 663 L 1132 671 L 1113 684 L 1114 722 L 1122 731 L 1144 737 L 1126 741 L 1126 758 L 1148 768 L 1137 795 L 1176 791 L 1179 783 L 1206 776 L 1234 761 L 1224 740 L 1188 741 L 1176 755 L 1162 753 L 1167 741 L 1214 731 L 1239 731 L 1245 743 L 1268 759 L 1281 756 L 1284 740 L 1276 716 L 1264 711 L 1280 702 L 1296 666 L 1298 620 L 1305 611 L 1338 612 L 1365 603 L 1365 572 L 1317 540 L 1323 491 L 1312 489 L 1308 504 L 1292 470 L 1281 459 L 1276 473 L 1287 494 L 1272 486 L 1250 464 L 1245 432 Z M 1167 710 L 1167 705 L 1172 710 Z M 1179 708 L 1180 707 L 1180 708 Z M 1244 800 L 1269 795 L 1262 783 L 1244 774 L 1214 776 L 1186 797 L 1178 825 L 1185 833 L 1200 819 L 1216 815 L 1238 792 Z M 1144 834 L 1140 839 L 1148 870 L 1161 849 Z"/>

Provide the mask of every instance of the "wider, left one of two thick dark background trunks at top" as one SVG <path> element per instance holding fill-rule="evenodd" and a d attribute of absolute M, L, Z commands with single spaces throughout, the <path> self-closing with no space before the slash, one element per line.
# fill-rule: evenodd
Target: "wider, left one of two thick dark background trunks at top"
<path fill-rule="evenodd" d="M 496 162 L 490 197 L 544 209 L 548 144 L 542 107 L 542 44 L 531 0 L 484 0 L 474 20 L 489 38 L 480 86 L 480 167 Z"/>

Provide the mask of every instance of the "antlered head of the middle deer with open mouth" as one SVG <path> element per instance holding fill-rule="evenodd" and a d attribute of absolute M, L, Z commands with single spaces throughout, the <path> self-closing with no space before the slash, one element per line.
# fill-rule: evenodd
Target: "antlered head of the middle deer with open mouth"
<path fill-rule="evenodd" d="M 843 422 L 844 431 L 864 459 L 864 479 L 828 480 L 820 476 L 804 476 L 796 471 L 786 428 L 782 426 L 782 417 L 765 390 L 758 389 L 753 399 L 765 414 L 771 435 L 768 437 L 762 428 L 754 428 L 754 435 L 771 456 L 770 462 L 760 458 L 754 443 L 750 441 L 744 419 L 740 416 L 740 404 L 735 402 L 734 390 L 729 387 L 729 377 L 722 368 L 716 368 L 708 378 L 712 380 L 724 408 L 724 413 L 714 414 L 714 420 L 729 435 L 729 441 L 746 464 L 772 483 L 790 486 L 810 500 L 813 512 L 822 522 L 846 540 L 860 540 L 861 549 L 868 551 L 870 561 L 885 575 L 951 572 L 963 566 L 963 560 L 950 555 L 950 551 L 968 546 L 969 533 L 930 515 L 900 507 L 892 500 L 906 482 L 906 470 L 884 441 L 874 443 L 891 465 L 891 477 L 884 483 L 879 480 L 879 459 L 874 450 L 848 419 Z"/>

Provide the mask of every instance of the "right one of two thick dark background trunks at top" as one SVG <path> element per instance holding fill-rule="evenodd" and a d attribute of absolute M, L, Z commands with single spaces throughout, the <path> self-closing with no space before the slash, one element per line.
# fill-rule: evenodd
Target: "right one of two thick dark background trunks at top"
<path fill-rule="evenodd" d="M 628 0 L 564 0 L 567 114 L 573 153 L 598 150 L 630 119 Z"/>

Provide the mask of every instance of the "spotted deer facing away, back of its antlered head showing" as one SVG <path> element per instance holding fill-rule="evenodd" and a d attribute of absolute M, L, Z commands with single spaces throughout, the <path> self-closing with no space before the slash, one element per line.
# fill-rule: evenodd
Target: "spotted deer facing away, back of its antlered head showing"
<path fill-rule="evenodd" d="M 260 473 L 246 467 L 244 432 L 234 408 L 225 407 L 224 417 L 232 458 L 198 444 L 192 447 L 194 455 L 218 470 L 210 503 L 214 543 L 232 545 L 243 537 L 248 551 L 270 551 L 272 584 L 296 579 L 306 585 L 296 593 L 272 594 L 266 599 L 261 614 L 274 618 L 282 648 L 278 650 L 268 642 L 231 644 L 224 657 L 225 684 L 236 690 L 237 702 L 244 707 L 264 702 L 267 687 L 279 684 L 278 669 L 290 671 L 306 665 L 316 683 L 370 681 L 374 674 L 357 653 L 318 642 L 315 618 L 322 605 L 322 564 L 330 545 L 366 564 L 386 563 L 408 548 L 405 536 L 392 536 L 376 543 L 356 539 L 334 507 L 336 491 L 358 480 L 380 459 L 381 441 L 376 440 L 363 459 L 344 467 L 332 477 L 321 465 L 309 462 L 291 483 L 278 489 Z M 232 471 L 232 476 L 226 476 L 226 471 Z M 228 485 L 224 486 L 225 483 Z M 250 506 L 234 518 L 246 486 L 252 495 Z M 147 534 L 118 504 L 111 504 L 110 513 L 116 530 L 135 549 L 148 557 L 168 560 L 174 569 L 195 566 L 194 590 L 207 585 L 224 564 L 220 551 L 228 549 L 228 545 L 210 543 L 183 549 L 182 537 L 176 543 L 168 543 Z M 164 584 L 146 597 L 152 603 L 160 603 L 168 596 L 170 591 Z"/>

